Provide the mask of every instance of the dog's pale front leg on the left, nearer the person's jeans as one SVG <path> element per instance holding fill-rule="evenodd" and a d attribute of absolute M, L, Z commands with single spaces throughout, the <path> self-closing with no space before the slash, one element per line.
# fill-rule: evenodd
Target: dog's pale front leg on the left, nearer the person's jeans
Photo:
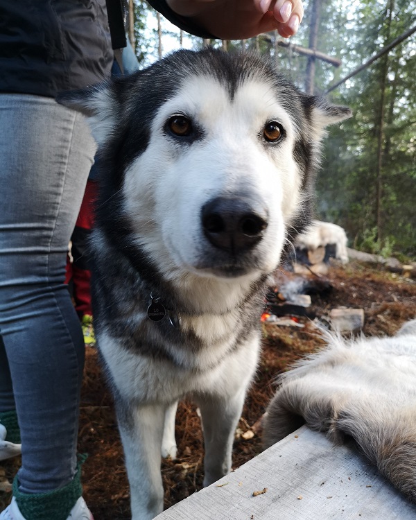
<path fill-rule="evenodd" d="M 150 520 L 163 510 L 160 461 L 164 415 L 165 407 L 158 404 L 117 406 L 132 520 Z"/>

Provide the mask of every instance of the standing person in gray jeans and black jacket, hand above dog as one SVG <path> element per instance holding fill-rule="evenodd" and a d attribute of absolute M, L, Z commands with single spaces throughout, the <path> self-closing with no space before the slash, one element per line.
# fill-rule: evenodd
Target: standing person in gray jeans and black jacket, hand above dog
<path fill-rule="evenodd" d="M 288 36 L 302 19 L 301 0 L 150 3 L 200 37 Z M 120 7 L 0 0 L 0 459 L 22 456 L 0 520 L 92 520 L 76 458 L 85 346 L 64 275 L 96 145 L 55 96 L 110 76 Z"/>

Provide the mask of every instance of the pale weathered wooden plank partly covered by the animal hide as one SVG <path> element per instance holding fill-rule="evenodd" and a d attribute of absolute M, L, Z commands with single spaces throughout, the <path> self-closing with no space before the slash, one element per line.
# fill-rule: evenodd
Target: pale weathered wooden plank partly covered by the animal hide
<path fill-rule="evenodd" d="M 253 492 L 267 489 L 253 496 Z M 302 426 L 157 520 L 415 520 L 416 507 L 349 445 Z"/>

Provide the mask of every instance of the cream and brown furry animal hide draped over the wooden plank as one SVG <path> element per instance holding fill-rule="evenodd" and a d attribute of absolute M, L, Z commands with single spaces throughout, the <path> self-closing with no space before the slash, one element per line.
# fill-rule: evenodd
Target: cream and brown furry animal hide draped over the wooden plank
<path fill-rule="evenodd" d="M 279 379 L 263 444 L 307 424 L 333 442 L 347 435 L 386 478 L 416 503 L 416 320 L 392 338 L 328 345 Z"/>

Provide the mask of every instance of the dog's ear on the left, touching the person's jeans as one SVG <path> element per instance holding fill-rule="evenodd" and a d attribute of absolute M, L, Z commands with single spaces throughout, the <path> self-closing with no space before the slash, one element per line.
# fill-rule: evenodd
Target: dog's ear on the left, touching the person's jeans
<path fill-rule="evenodd" d="M 118 103 L 114 97 L 109 81 L 86 89 L 62 92 L 56 101 L 87 116 L 92 135 L 101 146 L 112 135 L 116 125 Z"/>

